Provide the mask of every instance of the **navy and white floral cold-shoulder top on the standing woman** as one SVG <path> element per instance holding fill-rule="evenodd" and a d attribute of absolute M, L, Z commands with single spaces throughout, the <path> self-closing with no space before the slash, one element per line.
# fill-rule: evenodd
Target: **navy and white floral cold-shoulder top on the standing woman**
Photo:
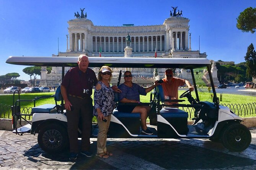
<path fill-rule="evenodd" d="M 98 82 L 101 89 L 94 90 L 94 109 L 93 115 L 98 116 L 96 109 L 100 109 L 104 116 L 111 115 L 114 107 L 114 90 L 109 86 L 107 87 L 103 82 Z"/>

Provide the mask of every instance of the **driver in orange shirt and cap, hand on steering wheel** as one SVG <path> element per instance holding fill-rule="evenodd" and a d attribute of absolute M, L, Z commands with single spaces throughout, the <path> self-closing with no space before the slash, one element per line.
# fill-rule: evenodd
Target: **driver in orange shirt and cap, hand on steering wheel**
<path fill-rule="evenodd" d="M 184 86 L 185 84 L 188 86 L 190 91 L 194 90 L 194 87 L 192 87 L 188 80 L 173 77 L 173 71 L 171 69 L 167 69 L 165 71 L 163 83 L 161 83 L 165 99 L 179 99 L 178 88 L 179 86 Z M 165 104 L 178 104 L 178 102 L 165 102 Z"/>

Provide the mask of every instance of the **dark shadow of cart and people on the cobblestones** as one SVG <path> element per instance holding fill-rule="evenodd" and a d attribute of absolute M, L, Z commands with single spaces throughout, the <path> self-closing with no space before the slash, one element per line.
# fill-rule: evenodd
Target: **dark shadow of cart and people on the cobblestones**
<path fill-rule="evenodd" d="M 122 154 L 126 153 L 166 169 L 214 169 L 245 167 L 256 164 L 256 161 L 253 159 L 223 153 L 223 146 L 220 143 L 216 144 L 210 141 L 199 142 L 201 146 L 205 145 L 207 148 L 220 149 L 220 151 L 213 151 L 195 146 L 196 144 L 184 144 L 184 142 L 189 143 L 190 141 L 183 141 L 183 139 L 181 141 L 124 139 L 110 140 L 107 144 L 108 149 L 117 157 L 121 157 Z M 197 141 L 191 140 L 191 142 L 195 143 Z M 96 145 L 96 141 L 91 144 L 93 157 L 88 158 L 80 154 L 77 160 L 74 161 L 68 159 L 68 151 L 49 154 L 42 151 L 38 144 L 25 151 L 23 155 L 29 157 L 28 160 L 32 162 L 41 162 L 43 165 L 55 165 L 59 168 L 69 165 L 71 169 L 117 169 L 95 156 Z"/>

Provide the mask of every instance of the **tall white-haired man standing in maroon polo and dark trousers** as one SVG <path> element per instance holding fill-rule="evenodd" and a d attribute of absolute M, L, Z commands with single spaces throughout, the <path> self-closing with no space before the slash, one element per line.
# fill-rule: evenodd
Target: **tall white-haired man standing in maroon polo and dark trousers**
<path fill-rule="evenodd" d="M 68 137 L 70 142 L 70 160 L 77 159 L 78 153 L 78 122 L 82 118 L 81 154 L 91 157 L 89 152 L 91 136 L 91 120 L 93 115 L 92 88 L 96 85 L 95 72 L 88 68 L 89 59 L 86 55 L 78 57 L 78 66 L 71 68 L 61 83 L 61 94 L 67 111 Z"/>

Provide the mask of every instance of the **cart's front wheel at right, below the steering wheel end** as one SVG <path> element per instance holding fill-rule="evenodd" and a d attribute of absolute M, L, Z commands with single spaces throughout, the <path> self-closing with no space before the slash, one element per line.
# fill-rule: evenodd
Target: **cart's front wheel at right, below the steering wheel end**
<path fill-rule="evenodd" d="M 222 134 L 222 144 L 233 152 L 244 151 L 251 143 L 251 132 L 245 125 L 235 123 L 228 126 Z"/>

